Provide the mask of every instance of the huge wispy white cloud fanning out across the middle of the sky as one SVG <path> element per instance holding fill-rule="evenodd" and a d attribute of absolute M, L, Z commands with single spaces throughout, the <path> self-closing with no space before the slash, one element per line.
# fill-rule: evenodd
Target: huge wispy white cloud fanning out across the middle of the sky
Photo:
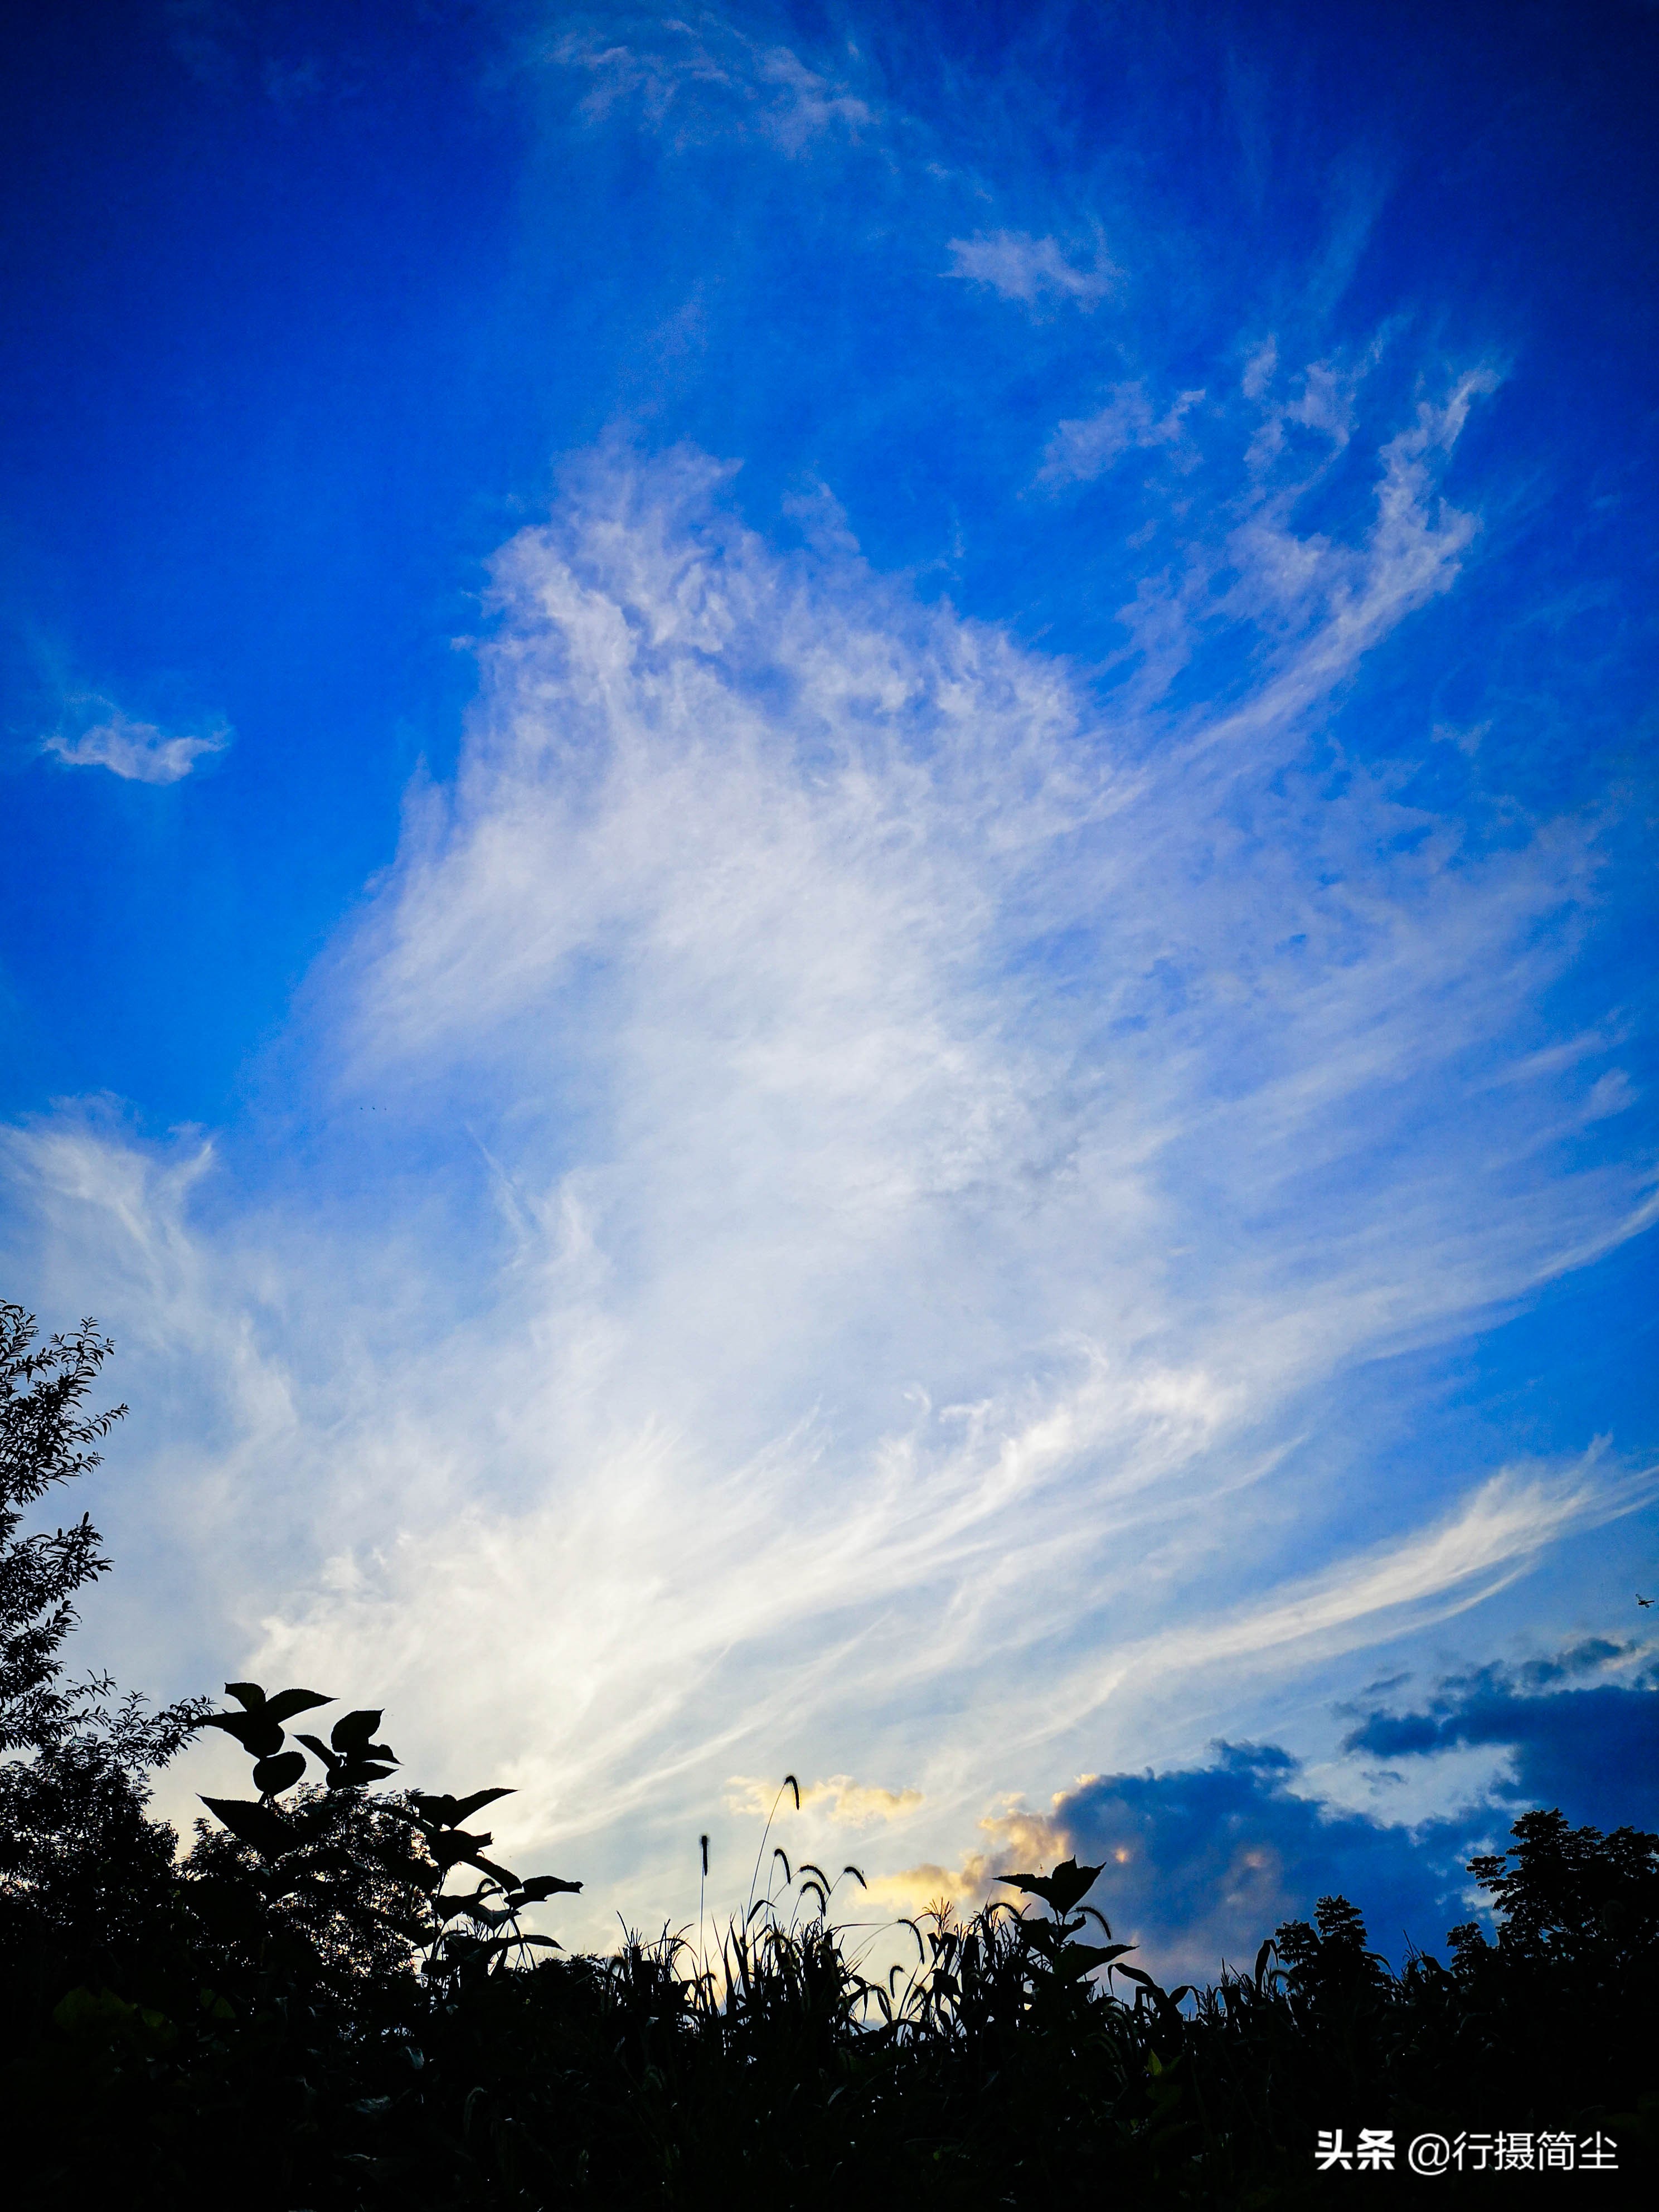
<path fill-rule="evenodd" d="M 38 1303 L 177 1409 L 126 1447 L 166 1666 L 219 1590 L 230 1670 L 515 1783 L 502 1847 L 602 1931 L 684 1902 L 732 1772 L 880 1774 L 942 1854 L 1053 1787 L 1057 1683 L 1117 1677 L 1088 1756 L 1135 1756 L 1137 1655 L 1283 1677 L 1617 1502 L 1610 1462 L 1407 1493 L 1363 1431 L 1343 1515 L 1294 1482 L 1310 1394 L 1650 1206 L 1551 1152 L 1601 1073 L 1535 1015 L 1586 836 L 1478 858 L 1298 770 L 1455 580 L 1467 398 L 1380 449 L 1360 542 L 1276 515 L 1228 611 L 1168 588 L 1177 644 L 1267 641 L 1223 719 L 1104 717 L 834 538 L 779 557 L 697 456 L 573 478 L 305 1002 L 305 1146 L 215 1188 L 97 1121 L 11 1141 Z"/>

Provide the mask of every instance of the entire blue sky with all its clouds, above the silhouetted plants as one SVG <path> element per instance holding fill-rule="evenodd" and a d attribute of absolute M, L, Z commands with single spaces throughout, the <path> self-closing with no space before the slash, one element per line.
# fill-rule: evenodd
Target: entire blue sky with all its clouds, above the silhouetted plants
<path fill-rule="evenodd" d="M 385 1701 L 595 1938 L 785 1767 L 1197 1971 L 1652 1820 L 1659 13 L 11 42 L 88 1657 Z"/>

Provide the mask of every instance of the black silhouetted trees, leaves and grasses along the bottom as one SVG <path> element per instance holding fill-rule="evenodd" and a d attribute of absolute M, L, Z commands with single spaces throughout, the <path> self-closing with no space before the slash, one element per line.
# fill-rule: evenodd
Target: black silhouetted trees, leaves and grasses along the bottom
<path fill-rule="evenodd" d="M 1099 1869 L 1011 1876 L 1024 1905 L 911 1929 L 869 1982 L 816 1867 L 726 1931 L 564 1958 L 471 1798 L 389 1787 L 380 1714 L 232 1683 L 146 1719 L 64 1688 L 102 1568 L 20 1504 L 91 1462 L 84 1329 L 31 1354 L 0 1307 L 0 2013 L 11 2201 L 332 2208 L 1294 2205 L 1332 2192 L 1652 2201 L 1659 1838 L 1515 1823 L 1475 1878 L 1500 1938 L 1391 1973 L 1360 1916 L 1265 1942 L 1254 1973 L 1164 1991 L 1086 1905 Z M 195 1725 L 252 1756 L 188 1856 L 144 1774 Z M 319 1730 L 323 1723 L 316 1723 Z M 310 1754 L 310 1756 L 307 1756 Z M 307 1776 L 316 1776 L 307 1781 Z M 779 1854 L 781 1858 L 781 1854 Z M 1396 2170 L 1316 2170 L 1321 2130 L 1391 2130 Z M 1604 2137 L 1613 2170 L 1413 2181 L 1413 2135 Z"/>

